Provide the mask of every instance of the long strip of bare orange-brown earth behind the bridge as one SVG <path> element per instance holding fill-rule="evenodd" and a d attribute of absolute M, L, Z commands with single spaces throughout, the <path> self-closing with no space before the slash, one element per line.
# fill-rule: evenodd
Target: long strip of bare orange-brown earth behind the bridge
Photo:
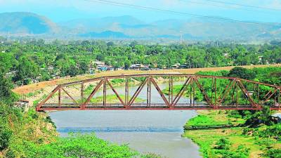
<path fill-rule="evenodd" d="M 234 66 L 230 67 L 206 67 L 206 68 L 193 68 L 193 69 L 174 69 L 174 70 L 150 70 L 150 71 L 141 71 L 141 70 L 119 70 L 119 71 L 110 71 L 110 72 L 100 72 L 92 75 L 84 75 L 80 77 L 69 77 L 63 79 L 55 79 L 51 81 L 43 81 L 36 84 L 30 84 L 26 86 L 20 86 L 15 88 L 13 91 L 20 95 L 38 91 L 42 88 L 46 88 L 48 86 L 55 86 L 57 84 L 64 84 L 70 81 L 79 81 L 83 79 L 91 79 L 94 77 L 103 77 L 110 75 L 119 75 L 119 74 L 144 74 L 144 73 L 181 73 L 181 74 L 195 74 L 200 71 L 219 71 L 219 70 L 231 70 Z M 241 66 L 245 68 L 253 68 L 253 67 L 281 67 L 281 64 L 278 65 L 246 65 Z"/>

